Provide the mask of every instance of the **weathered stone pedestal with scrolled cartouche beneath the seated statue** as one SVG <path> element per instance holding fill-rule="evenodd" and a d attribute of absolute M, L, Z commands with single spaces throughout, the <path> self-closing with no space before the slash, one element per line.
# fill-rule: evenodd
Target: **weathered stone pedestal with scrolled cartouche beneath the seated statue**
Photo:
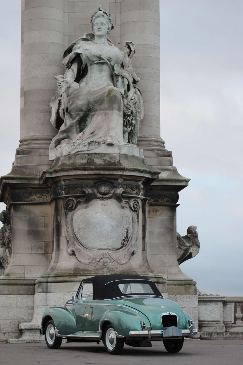
<path fill-rule="evenodd" d="M 109 154 L 58 157 L 39 179 L 2 177 L 13 250 L 1 293 L 6 301 L 35 295 L 34 306 L 28 305 L 29 316 L 34 310 L 30 326 L 30 317 L 9 322 L 8 338 L 19 337 L 16 327 L 23 323 L 21 341 L 39 341 L 44 308 L 63 306 L 82 278 L 96 274 L 138 273 L 163 293 L 195 295 L 195 281 L 181 272 L 176 258 L 178 191 L 188 179 L 173 166 L 164 175 L 152 169 L 136 147 L 133 155 L 109 148 Z"/>

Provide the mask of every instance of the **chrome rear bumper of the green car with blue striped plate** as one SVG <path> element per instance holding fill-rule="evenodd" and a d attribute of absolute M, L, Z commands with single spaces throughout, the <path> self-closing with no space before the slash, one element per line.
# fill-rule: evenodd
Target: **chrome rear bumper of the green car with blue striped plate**
<path fill-rule="evenodd" d="M 181 328 L 177 327 L 169 327 L 166 330 L 151 330 L 151 327 L 148 326 L 146 330 L 142 331 L 130 331 L 129 337 L 145 337 L 145 338 L 153 338 L 153 337 L 162 337 L 162 338 L 175 338 L 175 337 L 189 337 L 193 338 L 197 334 L 196 328 L 193 328 L 191 325 L 188 330 L 181 330 Z"/>

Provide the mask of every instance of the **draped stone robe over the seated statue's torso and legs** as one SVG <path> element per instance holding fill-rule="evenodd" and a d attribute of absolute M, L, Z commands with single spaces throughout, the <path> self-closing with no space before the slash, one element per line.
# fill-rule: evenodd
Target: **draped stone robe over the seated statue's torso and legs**
<path fill-rule="evenodd" d="M 122 94 L 114 86 L 114 65 L 121 61 L 123 53 L 108 39 L 107 42 L 109 46 L 99 45 L 91 42 L 90 37 L 83 37 L 64 53 L 63 64 L 68 67 L 64 76 L 74 74 L 77 84 L 74 91 L 72 85 L 69 93 L 67 88 L 69 112 L 65 112 L 64 122 L 52 139 L 50 159 L 56 157 L 56 147 L 65 145 L 68 153 L 75 153 L 101 143 L 124 143 Z M 56 116 L 52 119 L 54 127 Z"/>

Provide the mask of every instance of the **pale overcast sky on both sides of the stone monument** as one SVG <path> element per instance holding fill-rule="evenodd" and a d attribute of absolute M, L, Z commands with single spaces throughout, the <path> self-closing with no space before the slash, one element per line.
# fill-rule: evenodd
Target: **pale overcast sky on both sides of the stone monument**
<path fill-rule="evenodd" d="M 20 3 L 1 1 L 1 176 L 19 145 Z M 177 231 L 196 225 L 201 245 L 180 267 L 201 291 L 243 296 L 243 0 L 160 0 L 160 14 L 161 137 L 191 178 Z"/>

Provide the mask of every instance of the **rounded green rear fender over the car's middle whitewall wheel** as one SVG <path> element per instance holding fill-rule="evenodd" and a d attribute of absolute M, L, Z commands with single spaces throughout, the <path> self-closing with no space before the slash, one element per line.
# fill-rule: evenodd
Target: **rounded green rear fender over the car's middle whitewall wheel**
<path fill-rule="evenodd" d="M 114 330 L 118 335 L 129 337 L 130 331 L 141 331 L 141 321 L 145 322 L 146 328 L 151 326 L 148 318 L 142 313 L 130 312 L 130 311 L 107 311 L 101 317 L 99 322 L 99 330 L 102 330 L 103 325 L 106 322 L 110 322 L 114 326 Z"/>

